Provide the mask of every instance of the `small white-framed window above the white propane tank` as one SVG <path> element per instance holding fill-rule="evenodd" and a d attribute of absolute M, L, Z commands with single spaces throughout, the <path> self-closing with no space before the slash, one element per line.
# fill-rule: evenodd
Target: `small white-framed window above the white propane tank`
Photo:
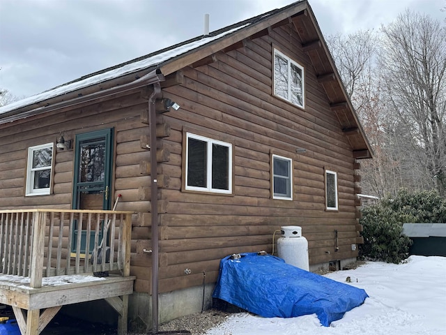
<path fill-rule="evenodd" d="M 272 198 L 293 200 L 293 160 L 272 155 Z"/>

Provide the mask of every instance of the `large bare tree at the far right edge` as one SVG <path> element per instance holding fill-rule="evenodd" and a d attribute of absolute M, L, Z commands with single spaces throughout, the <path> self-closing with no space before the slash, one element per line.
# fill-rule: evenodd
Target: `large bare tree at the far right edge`
<path fill-rule="evenodd" d="M 428 15 L 406 10 L 382 31 L 383 89 L 408 131 L 411 152 L 445 195 L 446 28 Z"/>

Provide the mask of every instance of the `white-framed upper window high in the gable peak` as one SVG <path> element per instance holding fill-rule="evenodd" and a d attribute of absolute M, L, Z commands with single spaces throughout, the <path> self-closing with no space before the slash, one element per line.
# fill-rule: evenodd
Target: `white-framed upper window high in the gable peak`
<path fill-rule="evenodd" d="M 274 94 L 305 108 L 304 68 L 288 56 L 274 50 Z"/>

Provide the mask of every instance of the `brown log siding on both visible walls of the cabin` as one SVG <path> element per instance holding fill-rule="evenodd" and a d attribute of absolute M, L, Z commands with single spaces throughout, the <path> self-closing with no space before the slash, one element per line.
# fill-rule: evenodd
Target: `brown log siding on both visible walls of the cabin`
<path fill-rule="evenodd" d="M 304 66 L 305 110 L 272 95 L 273 47 Z M 170 127 L 157 148 L 164 156 L 157 166 L 160 292 L 201 285 L 203 271 L 207 283 L 215 282 L 225 255 L 270 253 L 272 234 L 281 225 L 302 226 L 310 264 L 355 257 L 355 159 L 297 33 L 291 25 L 270 29 L 215 57 L 212 64 L 183 68 L 183 84 L 163 89 L 180 109 L 157 115 L 157 124 Z M 28 147 L 55 142 L 60 131 L 72 140 L 114 127 L 113 191 L 115 199 L 122 195 L 118 210 L 134 212 L 130 274 L 137 276 L 137 292 L 151 288 L 151 255 L 143 252 L 151 248 L 151 153 L 143 149 L 149 128 L 141 122 L 147 107 L 146 92 L 129 91 L 0 126 L 0 209 L 69 209 L 74 151 L 54 153 L 52 195 L 24 197 Z M 182 191 L 185 131 L 233 144 L 233 195 Z M 296 153 L 298 147 L 307 152 Z M 293 160 L 293 201 L 272 199 L 272 152 Z M 339 211 L 325 211 L 325 167 L 337 171 Z M 192 273 L 185 274 L 186 268 Z"/>

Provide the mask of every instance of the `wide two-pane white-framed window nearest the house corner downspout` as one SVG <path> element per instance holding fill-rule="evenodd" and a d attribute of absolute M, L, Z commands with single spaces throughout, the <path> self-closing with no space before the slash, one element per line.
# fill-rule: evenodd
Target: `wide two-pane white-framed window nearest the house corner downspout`
<path fill-rule="evenodd" d="M 232 193 L 232 144 L 186 134 L 185 189 Z"/>

